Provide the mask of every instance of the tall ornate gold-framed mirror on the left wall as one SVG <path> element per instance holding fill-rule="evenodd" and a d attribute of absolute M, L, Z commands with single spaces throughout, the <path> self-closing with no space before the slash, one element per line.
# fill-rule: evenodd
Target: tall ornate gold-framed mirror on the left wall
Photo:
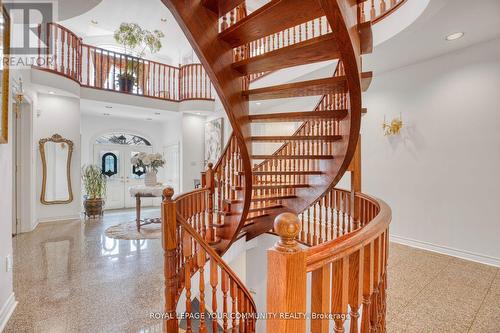
<path fill-rule="evenodd" d="M 44 205 L 67 204 L 73 201 L 71 188 L 71 156 L 73 141 L 59 134 L 39 141 L 42 157 L 42 194 Z"/>

